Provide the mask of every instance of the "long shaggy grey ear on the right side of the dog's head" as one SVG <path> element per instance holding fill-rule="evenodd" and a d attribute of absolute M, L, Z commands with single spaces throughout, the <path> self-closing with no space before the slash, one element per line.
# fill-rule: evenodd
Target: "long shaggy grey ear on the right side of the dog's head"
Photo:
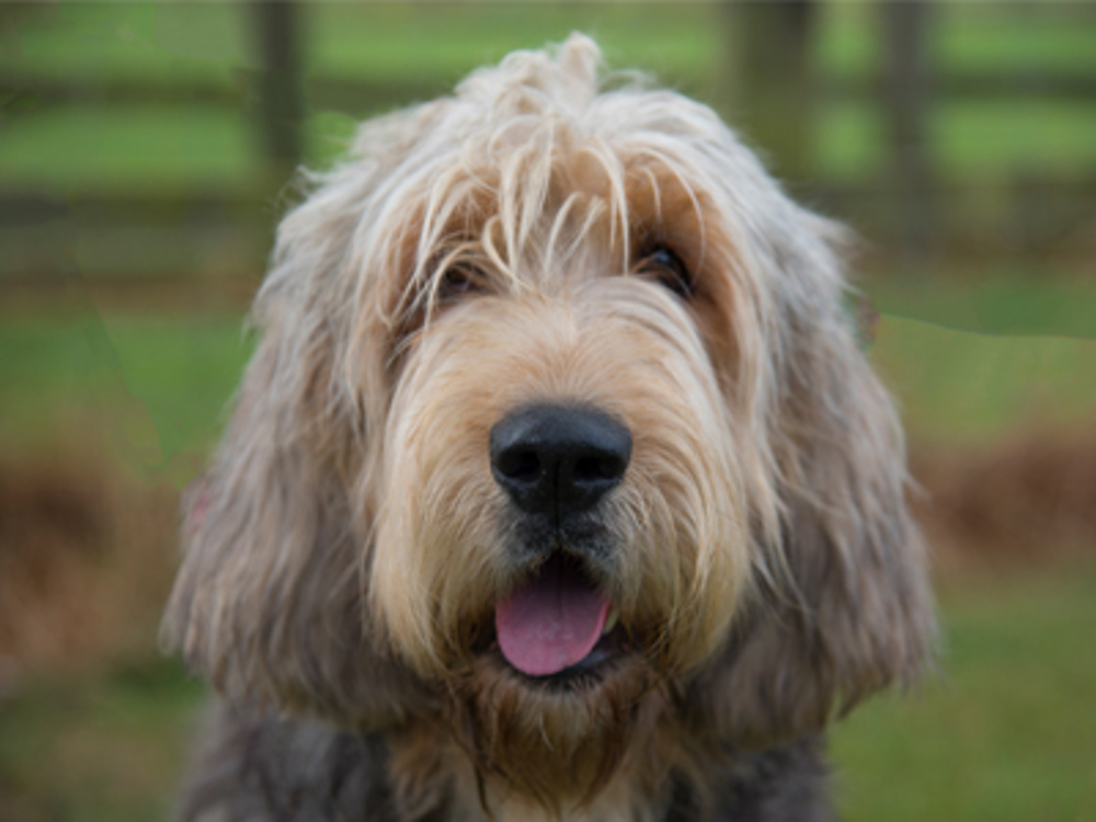
<path fill-rule="evenodd" d="M 689 693 L 706 728 L 750 747 L 817 731 L 868 694 L 911 682 L 934 633 L 903 437 L 843 310 L 836 229 L 788 205 L 794 219 L 773 227 L 769 253 L 755 258 L 774 296 L 779 545 Z"/>

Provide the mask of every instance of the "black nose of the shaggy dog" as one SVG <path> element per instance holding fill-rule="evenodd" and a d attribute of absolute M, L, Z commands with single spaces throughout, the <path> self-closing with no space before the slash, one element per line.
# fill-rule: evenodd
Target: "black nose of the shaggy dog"
<path fill-rule="evenodd" d="M 620 483 L 631 432 L 592 408 L 532 406 L 491 429 L 491 470 L 520 509 L 553 518 L 592 507 Z"/>

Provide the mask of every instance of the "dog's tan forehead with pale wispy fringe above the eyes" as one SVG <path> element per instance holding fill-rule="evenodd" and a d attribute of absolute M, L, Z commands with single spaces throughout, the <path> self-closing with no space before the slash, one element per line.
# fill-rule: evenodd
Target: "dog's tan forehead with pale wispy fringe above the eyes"
<path fill-rule="evenodd" d="M 627 267 L 655 239 L 699 243 L 720 213 L 695 163 L 642 137 L 609 141 L 569 121 L 539 128 L 489 150 L 476 138 L 455 153 L 431 181 L 420 253 L 441 259 L 479 243 L 517 278 L 555 281 Z"/>

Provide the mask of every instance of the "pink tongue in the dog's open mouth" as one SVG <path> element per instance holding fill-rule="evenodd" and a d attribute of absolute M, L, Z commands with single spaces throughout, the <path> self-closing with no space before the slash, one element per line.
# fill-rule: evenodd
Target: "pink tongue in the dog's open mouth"
<path fill-rule="evenodd" d="M 609 600 L 566 563 L 540 573 L 494 606 L 499 647 L 529 676 L 550 676 L 585 659 L 602 636 Z"/>

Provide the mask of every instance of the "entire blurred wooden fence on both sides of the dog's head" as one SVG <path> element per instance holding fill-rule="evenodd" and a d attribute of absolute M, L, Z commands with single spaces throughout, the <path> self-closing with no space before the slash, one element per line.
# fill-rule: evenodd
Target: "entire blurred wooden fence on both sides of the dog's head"
<path fill-rule="evenodd" d="M 1091 262 L 1096 256 L 1096 169 L 1058 178 L 1017 169 L 1012 180 L 986 194 L 937 173 L 928 124 L 934 106 L 945 100 L 1037 98 L 1092 106 L 1096 76 L 934 71 L 928 59 L 933 10 L 929 3 L 880 4 L 877 36 L 887 59 L 879 72 L 834 80 L 819 77 L 807 58 L 815 36 L 814 3 L 735 5 L 728 11 L 727 31 L 729 39 L 743 46 L 737 52 L 742 56 L 740 81 L 728 82 L 728 95 L 717 102 L 741 114 L 747 133 L 770 152 L 777 172 L 796 194 L 852 221 L 911 272 L 955 255 L 1040 261 L 1081 256 Z M 184 81 L 165 90 L 141 78 L 105 84 L 80 77 L 5 78 L 13 89 L 9 102 L 31 101 L 37 109 L 78 103 L 107 111 L 170 99 L 250 111 L 263 136 L 266 171 L 244 186 L 183 194 L 170 189 L 103 190 L 57 197 L 4 187 L 0 180 L 0 244 L 8 249 L 0 261 L 0 285 L 41 289 L 65 282 L 73 272 L 127 288 L 193 281 L 216 289 L 222 286 L 212 284 L 222 277 L 253 284 L 281 207 L 277 192 L 302 153 L 305 112 L 357 113 L 445 90 L 441 79 L 304 80 L 295 15 L 305 11 L 288 3 L 249 7 L 251 25 L 260 34 L 262 69 L 238 72 L 233 87 Z M 1093 32 L 1096 35 L 1096 25 Z M 888 124 L 887 172 L 866 182 L 827 180 L 811 168 L 820 112 L 847 100 L 878 106 Z M 994 203 L 989 210 L 970 205 L 987 197 Z M 121 263 L 105 239 L 99 256 L 84 251 L 73 260 L 71 248 L 80 241 L 73 238 L 112 233 L 115 248 L 128 247 L 129 263 Z M 144 253 L 145 247 L 160 253 Z"/>

